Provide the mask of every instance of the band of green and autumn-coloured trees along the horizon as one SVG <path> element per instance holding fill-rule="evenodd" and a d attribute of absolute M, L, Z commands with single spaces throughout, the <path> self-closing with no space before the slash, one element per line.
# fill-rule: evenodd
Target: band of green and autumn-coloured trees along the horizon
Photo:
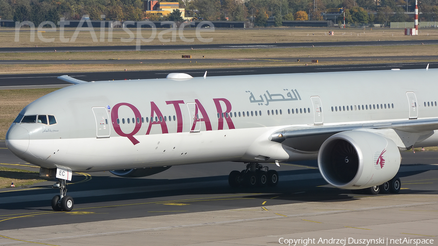
<path fill-rule="evenodd" d="M 162 0 L 172 1 L 172 0 Z M 323 20 L 328 9 L 345 8 L 347 24 L 389 24 L 390 21 L 413 21 L 405 12 L 413 12 L 410 0 L 178 0 L 185 16 L 204 20 L 249 20 L 265 26 L 273 18 L 275 25 L 283 20 Z M 407 5 L 407 6 L 406 6 Z M 143 0 L 0 0 L 1 19 L 57 23 L 60 18 L 91 20 L 182 20 L 179 11 L 168 16 L 143 11 Z M 438 0 L 421 0 L 419 18 L 435 21 Z M 341 20 L 337 20 L 341 22 Z M 342 18 L 343 21 L 343 18 Z"/>

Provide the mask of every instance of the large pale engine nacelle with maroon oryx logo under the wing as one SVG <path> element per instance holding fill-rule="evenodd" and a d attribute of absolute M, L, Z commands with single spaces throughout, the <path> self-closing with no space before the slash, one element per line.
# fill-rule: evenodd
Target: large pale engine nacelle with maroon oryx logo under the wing
<path fill-rule="evenodd" d="M 321 175 L 332 186 L 364 189 L 393 178 L 402 158 L 394 141 L 366 131 L 347 131 L 328 138 L 318 153 Z"/>

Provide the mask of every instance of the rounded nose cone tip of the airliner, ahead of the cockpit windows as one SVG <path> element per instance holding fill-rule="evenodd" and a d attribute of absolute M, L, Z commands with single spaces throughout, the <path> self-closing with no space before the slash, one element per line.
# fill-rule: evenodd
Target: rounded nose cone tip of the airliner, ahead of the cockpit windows
<path fill-rule="evenodd" d="M 6 147 L 17 155 L 23 154 L 29 147 L 29 132 L 19 125 L 11 126 L 6 133 Z"/>

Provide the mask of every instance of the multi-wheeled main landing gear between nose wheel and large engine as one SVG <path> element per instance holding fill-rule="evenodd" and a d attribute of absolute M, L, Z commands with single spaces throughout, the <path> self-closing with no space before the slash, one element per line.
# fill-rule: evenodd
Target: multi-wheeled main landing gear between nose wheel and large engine
<path fill-rule="evenodd" d="M 278 173 L 258 163 L 250 162 L 242 172 L 232 171 L 228 176 L 228 183 L 231 187 L 275 186 L 278 184 Z"/>

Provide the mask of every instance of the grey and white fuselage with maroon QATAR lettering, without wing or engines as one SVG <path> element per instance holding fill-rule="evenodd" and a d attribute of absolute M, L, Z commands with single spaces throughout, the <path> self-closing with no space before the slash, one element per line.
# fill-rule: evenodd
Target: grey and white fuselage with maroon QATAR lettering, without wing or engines
<path fill-rule="evenodd" d="M 76 172 L 313 159 L 320 143 L 295 148 L 270 136 L 438 119 L 437 79 L 438 70 L 390 70 L 83 83 L 26 106 L 20 115 L 56 123 L 13 123 L 6 143 L 30 163 Z M 417 132 L 415 143 L 438 144 L 433 132 Z"/>

